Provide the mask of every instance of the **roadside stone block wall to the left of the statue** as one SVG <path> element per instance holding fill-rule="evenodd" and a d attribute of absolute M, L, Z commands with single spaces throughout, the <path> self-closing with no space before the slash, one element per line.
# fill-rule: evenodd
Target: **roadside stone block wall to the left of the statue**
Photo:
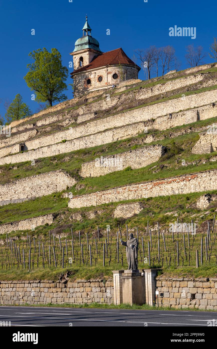
<path fill-rule="evenodd" d="M 0 304 L 114 303 L 113 281 L 0 281 Z"/>

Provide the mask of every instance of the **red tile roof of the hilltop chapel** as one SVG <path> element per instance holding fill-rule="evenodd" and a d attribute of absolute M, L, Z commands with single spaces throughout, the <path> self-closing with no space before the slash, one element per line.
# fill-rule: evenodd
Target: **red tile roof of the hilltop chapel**
<path fill-rule="evenodd" d="M 108 51 L 108 52 L 100 54 L 99 56 L 94 58 L 89 64 L 87 64 L 86 66 L 81 67 L 77 70 L 74 70 L 70 74 L 79 73 L 79 72 L 83 72 L 85 70 L 104 67 L 107 65 L 114 65 L 114 64 L 135 65 L 135 63 L 129 57 L 127 57 L 126 53 L 120 47 L 119 49 L 116 49 L 113 51 Z"/>

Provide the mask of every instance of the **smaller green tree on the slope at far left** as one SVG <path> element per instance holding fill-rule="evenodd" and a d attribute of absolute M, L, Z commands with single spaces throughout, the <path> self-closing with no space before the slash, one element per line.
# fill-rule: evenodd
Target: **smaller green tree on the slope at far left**
<path fill-rule="evenodd" d="M 22 100 L 20 94 L 16 95 L 13 102 L 10 104 L 5 117 L 8 117 L 9 122 L 14 120 L 25 119 L 32 114 L 29 106 Z"/>

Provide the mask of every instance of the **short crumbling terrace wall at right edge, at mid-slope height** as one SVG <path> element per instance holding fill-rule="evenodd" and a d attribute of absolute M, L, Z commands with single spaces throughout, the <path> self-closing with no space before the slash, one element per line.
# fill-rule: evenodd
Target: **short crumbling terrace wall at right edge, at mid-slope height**
<path fill-rule="evenodd" d="M 200 134 L 199 141 L 192 148 L 193 154 L 206 154 L 217 150 L 217 131 L 214 124 L 214 133 L 203 132 Z"/>

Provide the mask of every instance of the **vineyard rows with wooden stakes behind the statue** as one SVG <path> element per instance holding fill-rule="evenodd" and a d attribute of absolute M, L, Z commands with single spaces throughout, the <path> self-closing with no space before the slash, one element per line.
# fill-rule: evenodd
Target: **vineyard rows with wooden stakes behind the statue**
<path fill-rule="evenodd" d="M 26 233 L 22 240 L 6 234 L 0 249 L 1 274 L 28 275 L 30 279 L 39 271 L 47 277 L 65 273 L 73 277 L 77 272 L 86 276 L 97 273 L 110 275 L 111 270 L 127 269 L 126 249 L 119 240 L 128 240 L 129 231 L 139 241 L 140 269 L 209 267 L 216 270 L 215 216 L 202 225 L 199 229 L 193 221 L 182 224 L 177 218 L 175 224 L 162 231 L 157 222 L 156 227 L 149 227 L 147 223 L 142 231 L 118 225 L 117 231 L 107 228 L 103 232 L 97 227 L 94 232 L 82 234 L 80 231 L 73 232 L 71 228 L 64 238 L 50 230 L 44 239 L 34 237 L 33 232 Z"/>

